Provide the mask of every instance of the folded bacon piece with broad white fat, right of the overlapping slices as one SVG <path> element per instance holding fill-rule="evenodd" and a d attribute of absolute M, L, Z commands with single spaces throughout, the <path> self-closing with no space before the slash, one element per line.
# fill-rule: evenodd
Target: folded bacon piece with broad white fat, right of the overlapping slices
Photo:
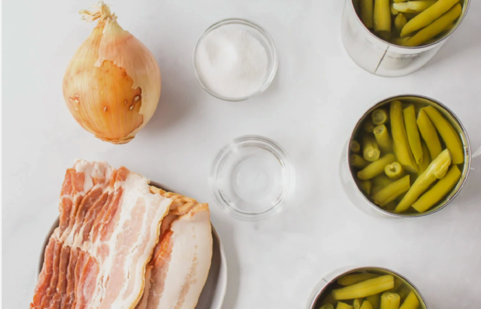
<path fill-rule="evenodd" d="M 212 259 L 210 212 L 207 204 L 184 203 L 192 203 L 186 214 L 169 214 L 169 220 L 162 222 L 163 233 L 136 309 L 192 309 L 197 305 Z"/>

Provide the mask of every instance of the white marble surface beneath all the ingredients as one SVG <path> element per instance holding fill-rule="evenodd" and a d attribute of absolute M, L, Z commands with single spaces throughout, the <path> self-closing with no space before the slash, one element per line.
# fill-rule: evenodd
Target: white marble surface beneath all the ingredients
<path fill-rule="evenodd" d="M 403 78 L 359 69 L 339 36 L 344 1 L 109 1 L 119 23 L 153 52 L 161 102 L 131 143 L 114 146 L 80 128 L 63 102 L 67 62 L 93 29 L 77 11 L 92 0 L 3 1 L 3 308 L 26 308 L 38 255 L 74 159 L 126 165 L 212 203 L 208 171 L 229 139 L 278 141 L 298 176 L 295 203 L 262 222 L 239 222 L 211 204 L 229 261 L 225 309 L 303 308 L 322 275 L 347 264 L 387 266 L 421 289 L 432 308 L 481 300 L 481 160 L 456 201 L 420 220 L 358 211 L 338 180 L 339 155 L 368 106 L 399 93 L 445 103 L 481 145 L 481 1 L 426 67 Z M 256 21 L 273 36 L 278 75 L 240 103 L 212 98 L 192 71 L 192 49 L 212 23 Z"/>

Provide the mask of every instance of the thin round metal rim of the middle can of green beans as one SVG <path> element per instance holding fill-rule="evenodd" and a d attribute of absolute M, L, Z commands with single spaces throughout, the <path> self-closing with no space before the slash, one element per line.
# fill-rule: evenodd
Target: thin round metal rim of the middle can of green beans
<path fill-rule="evenodd" d="M 424 99 L 424 100 L 428 100 L 438 106 L 440 106 L 441 108 L 444 108 L 445 111 L 447 111 L 447 113 L 449 113 L 451 115 L 451 117 L 453 117 L 453 119 L 458 123 L 458 125 L 460 126 L 461 130 L 462 130 L 462 133 L 465 135 L 466 137 L 466 141 L 465 143 L 463 143 L 463 147 L 466 148 L 466 152 L 467 152 L 467 159 L 466 159 L 466 167 L 465 167 L 465 170 L 466 170 L 466 175 L 464 177 L 464 179 L 462 179 L 462 183 L 460 185 L 460 187 L 458 188 L 458 190 L 456 190 L 456 192 L 453 194 L 453 196 L 451 196 L 451 198 L 449 198 L 448 201 L 446 201 L 443 205 L 439 206 L 438 208 L 432 210 L 432 211 L 425 211 L 423 213 L 420 213 L 420 214 L 409 214 L 409 215 L 405 215 L 405 214 L 394 214 L 390 211 L 387 211 L 385 209 L 382 209 L 381 207 L 378 207 L 377 205 L 374 205 L 374 203 L 372 203 L 372 201 L 370 201 L 366 195 L 364 195 L 361 190 L 359 189 L 359 186 L 358 185 L 355 185 L 355 190 L 357 192 L 358 195 L 360 195 L 364 201 L 368 202 L 368 204 L 372 207 L 372 209 L 375 209 L 376 211 L 378 211 L 379 213 L 381 214 L 384 214 L 384 215 L 387 215 L 387 216 L 391 216 L 393 218 L 420 218 L 420 217 L 424 217 L 424 216 L 429 216 L 430 214 L 434 214 L 438 211 L 440 211 L 441 209 L 444 209 L 447 205 L 449 205 L 449 203 L 451 203 L 454 198 L 456 198 L 456 196 L 458 196 L 458 194 L 461 192 L 462 188 L 465 186 L 466 184 L 466 181 L 468 179 L 468 176 L 469 176 L 469 170 L 471 169 L 471 143 L 469 141 L 469 136 L 468 136 L 468 133 L 467 133 L 467 130 L 465 128 L 465 126 L 463 126 L 461 120 L 458 118 L 458 116 L 456 116 L 455 113 L 453 113 L 453 111 L 451 111 L 451 109 L 449 109 L 447 106 L 445 106 L 445 104 L 439 102 L 438 100 L 434 100 L 433 98 L 429 98 L 425 95 L 416 95 L 416 94 L 411 94 L 411 93 L 406 93 L 406 94 L 400 94 L 400 95 L 392 95 L 388 98 L 385 98 L 383 100 L 380 100 L 379 102 L 377 102 L 376 104 L 370 106 L 370 108 L 367 109 L 367 111 L 365 113 L 363 113 L 361 115 L 361 117 L 359 118 L 359 120 L 356 122 L 355 124 L 355 127 L 353 128 L 351 134 L 350 134 L 350 137 L 349 137 L 349 140 L 348 140 L 348 149 L 350 148 L 350 143 L 351 141 L 353 141 L 353 137 L 354 137 L 354 133 L 356 132 L 356 128 L 359 127 L 361 121 L 366 117 L 366 115 L 372 110 L 374 109 L 376 106 L 378 106 L 379 104 L 383 104 L 385 102 L 388 102 L 388 101 L 391 101 L 391 100 L 395 100 L 395 99 L 399 99 L 399 98 L 405 98 L 405 97 L 414 97 L 414 98 L 421 98 L 421 99 Z M 346 152 L 346 159 L 348 160 L 347 162 L 349 162 L 349 151 Z M 351 165 L 348 164 L 348 169 L 349 169 L 349 173 L 350 173 L 350 177 L 354 180 L 354 177 L 353 177 L 353 170 L 351 168 Z"/>

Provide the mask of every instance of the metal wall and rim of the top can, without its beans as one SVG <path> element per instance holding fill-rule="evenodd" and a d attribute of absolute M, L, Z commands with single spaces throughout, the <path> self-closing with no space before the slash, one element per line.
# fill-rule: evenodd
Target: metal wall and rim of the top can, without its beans
<path fill-rule="evenodd" d="M 470 0 L 463 3 L 462 14 L 454 27 L 438 41 L 420 47 L 402 47 L 375 36 L 363 25 L 356 8 L 359 0 L 346 0 L 341 36 L 350 58 L 359 67 L 378 76 L 405 76 L 421 69 L 446 43 L 466 16 Z"/>

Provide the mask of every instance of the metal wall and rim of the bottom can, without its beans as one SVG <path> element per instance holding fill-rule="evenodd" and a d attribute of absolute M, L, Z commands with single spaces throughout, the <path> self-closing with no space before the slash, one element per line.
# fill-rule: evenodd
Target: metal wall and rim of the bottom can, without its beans
<path fill-rule="evenodd" d="M 374 271 L 375 273 L 393 275 L 394 277 L 401 279 L 401 282 L 403 282 L 403 284 L 407 284 L 407 286 L 409 286 L 410 289 L 413 290 L 416 296 L 418 297 L 419 302 L 421 303 L 420 309 L 429 309 L 423 295 L 421 295 L 421 292 L 419 292 L 418 288 L 416 288 L 416 286 L 414 286 L 412 282 L 406 279 L 403 275 L 396 273 L 395 271 L 391 271 L 388 268 L 376 267 L 376 266 L 359 266 L 359 267 L 347 266 L 344 268 L 337 269 L 329 273 L 328 275 L 324 276 L 324 278 L 322 278 L 321 281 L 316 284 L 316 286 L 313 289 L 313 292 L 309 296 L 309 299 L 306 303 L 306 309 L 320 308 L 322 301 L 324 300 L 324 296 L 326 296 L 327 293 L 329 292 L 329 287 L 331 286 L 331 284 L 335 283 L 336 280 L 339 279 L 339 277 L 348 275 L 350 273 L 359 272 L 359 271 Z"/>

